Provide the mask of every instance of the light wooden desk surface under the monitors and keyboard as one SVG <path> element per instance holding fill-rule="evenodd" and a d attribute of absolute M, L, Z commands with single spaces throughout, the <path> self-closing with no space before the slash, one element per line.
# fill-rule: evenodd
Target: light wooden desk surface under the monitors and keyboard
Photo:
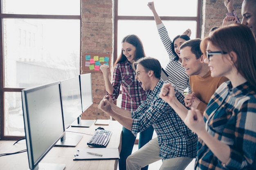
<path fill-rule="evenodd" d="M 92 125 L 90 128 L 70 127 L 67 130 L 72 132 L 81 132 L 90 135 L 82 135 L 81 141 L 76 147 L 53 147 L 43 158 L 41 163 L 64 163 L 64 170 L 116 170 L 118 160 L 92 160 L 92 161 L 73 161 L 76 148 L 89 148 L 87 141 L 92 137 L 95 129 L 99 126 Z M 101 126 L 105 130 L 111 130 L 112 135 L 107 148 L 119 148 L 121 150 L 121 131 L 122 126 L 117 121 L 110 121 L 110 125 Z M 77 134 L 77 133 L 75 133 Z M 19 141 L 13 145 L 15 141 L 0 140 L 0 153 L 11 153 L 26 149 L 26 141 Z M 27 152 L 0 157 L 1 169 L 3 170 L 28 170 L 29 163 Z"/>

